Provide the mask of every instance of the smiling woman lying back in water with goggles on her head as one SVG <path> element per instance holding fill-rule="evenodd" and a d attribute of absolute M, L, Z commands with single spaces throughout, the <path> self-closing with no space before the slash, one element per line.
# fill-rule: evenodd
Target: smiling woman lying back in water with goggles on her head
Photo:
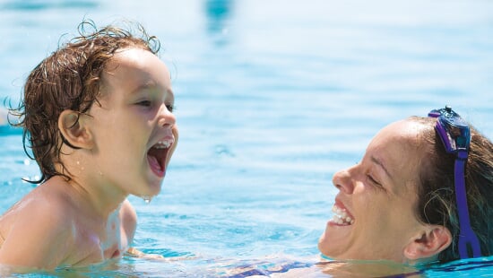
<path fill-rule="evenodd" d="M 420 265 L 492 255 L 493 144 L 449 107 L 386 126 L 333 185 L 324 256 Z"/>

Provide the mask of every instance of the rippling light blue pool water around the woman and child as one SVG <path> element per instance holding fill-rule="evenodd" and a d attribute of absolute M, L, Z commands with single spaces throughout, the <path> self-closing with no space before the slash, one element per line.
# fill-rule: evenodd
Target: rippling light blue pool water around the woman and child
<path fill-rule="evenodd" d="M 0 98 L 16 103 L 30 70 L 83 18 L 142 22 L 160 38 L 180 142 L 160 195 L 130 200 L 135 247 L 169 259 L 124 257 L 48 276 L 306 268 L 332 216 L 333 173 L 359 161 L 378 129 L 449 104 L 493 135 L 489 0 L 2 0 Z M 0 111 L 2 212 L 32 189 L 22 178 L 39 175 L 21 132 L 3 122 Z M 476 277 L 493 274 L 492 262 L 424 274 Z"/>

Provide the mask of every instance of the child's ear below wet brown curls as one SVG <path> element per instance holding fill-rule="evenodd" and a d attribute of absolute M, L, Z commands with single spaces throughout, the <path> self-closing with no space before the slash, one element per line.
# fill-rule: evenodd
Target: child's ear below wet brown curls
<path fill-rule="evenodd" d="M 79 149 L 91 149 L 93 140 L 91 130 L 84 114 L 77 113 L 73 110 L 64 110 L 58 117 L 58 129 L 64 141 L 69 146 Z"/>

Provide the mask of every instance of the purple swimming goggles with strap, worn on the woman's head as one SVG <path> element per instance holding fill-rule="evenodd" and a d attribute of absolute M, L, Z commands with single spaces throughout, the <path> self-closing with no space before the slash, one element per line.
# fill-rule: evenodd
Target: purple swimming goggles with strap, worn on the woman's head
<path fill-rule="evenodd" d="M 460 225 L 459 255 L 461 258 L 470 257 L 468 251 L 471 248 L 471 257 L 481 256 L 480 241 L 471 229 L 465 192 L 464 169 L 469 153 L 469 143 L 471 143 L 469 125 L 449 106 L 445 106 L 445 109 L 431 110 L 428 117 L 437 117 L 435 130 L 445 145 L 445 151 L 455 154 L 454 185 Z"/>

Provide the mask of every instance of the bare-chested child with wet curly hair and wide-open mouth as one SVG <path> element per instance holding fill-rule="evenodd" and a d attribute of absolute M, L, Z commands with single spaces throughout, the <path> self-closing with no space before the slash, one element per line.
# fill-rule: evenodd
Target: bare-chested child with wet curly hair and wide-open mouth
<path fill-rule="evenodd" d="M 132 244 L 136 214 L 126 197 L 160 192 L 177 145 L 159 41 L 138 30 L 82 22 L 79 37 L 30 73 L 11 114 L 40 185 L 0 218 L 0 265 L 91 265 Z"/>

